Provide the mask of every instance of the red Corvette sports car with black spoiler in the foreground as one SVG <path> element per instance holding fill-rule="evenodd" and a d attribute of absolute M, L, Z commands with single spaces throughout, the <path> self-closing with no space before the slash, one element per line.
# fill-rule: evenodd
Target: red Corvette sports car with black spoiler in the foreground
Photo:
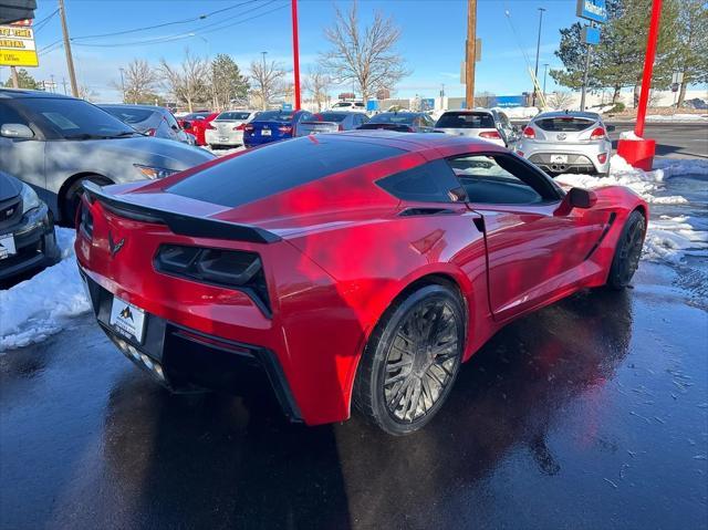
<path fill-rule="evenodd" d="M 626 287 L 648 215 L 626 188 L 566 193 L 441 134 L 308 136 L 85 189 L 80 270 L 137 365 L 174 391 L 270 386 L 308 425 L 354 404 L 394 435 L 507 322 Z"/>

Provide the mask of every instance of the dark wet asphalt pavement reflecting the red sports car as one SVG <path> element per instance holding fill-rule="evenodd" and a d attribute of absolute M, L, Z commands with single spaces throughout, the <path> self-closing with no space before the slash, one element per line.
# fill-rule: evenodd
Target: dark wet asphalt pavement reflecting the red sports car
<path fill-rule="evenodd" d="M 509 325 L 406 438 L 170 396 L 85 315 L 0 357 L 0 526 L 705 527 L 708 314 L 678 276 Z"/>

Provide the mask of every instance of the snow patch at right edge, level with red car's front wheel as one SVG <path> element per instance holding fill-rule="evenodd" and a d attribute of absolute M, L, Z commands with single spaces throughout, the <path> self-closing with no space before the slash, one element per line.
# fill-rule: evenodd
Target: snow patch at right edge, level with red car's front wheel
<path fill-rule="evenodd" d="M 687 216 L 660 216 L 649 221 L 644 258 L 678 263 L 686 254 L 708 256 L 708 232 L 696 230 Z"/>

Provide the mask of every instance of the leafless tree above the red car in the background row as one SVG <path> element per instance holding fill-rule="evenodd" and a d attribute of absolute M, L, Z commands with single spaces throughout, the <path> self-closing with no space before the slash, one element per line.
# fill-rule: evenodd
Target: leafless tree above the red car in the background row
<path fill-rule="evenodd" d="M 185 50 L 185 58 L 179 66 L 173 66 L 160 59 L 159 72 L 167 90 L 177 101 L 186 103 L 189 112 L 194 112 L 196 103 L 210 98 L 209 62 L 192 55 L 189 49 Z"/>

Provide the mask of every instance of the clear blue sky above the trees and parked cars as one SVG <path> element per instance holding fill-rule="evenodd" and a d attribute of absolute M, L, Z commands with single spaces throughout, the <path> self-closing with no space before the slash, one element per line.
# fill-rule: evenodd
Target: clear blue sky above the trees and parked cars
<path fill-rule="evenodd" d="M 66 0 L 71 35 L 76 38 L 73 52 L 79 82 L 90 86 L 98 100 L 117 100 L 119 93 L 114 83 L 119 80 L 121 65 L 134 58 L 150 62 L 165 58 L 177 62 L 186 46 L 201 55 L 229 53 L 243 70 L 248 69 L 252 59 L 260 59 L 261 51 L 268 51 L 269 59 L 292 67 L 290 1 L 244 1 Z M 39 0 L 38 3 L 35 22 L 50 15 L 58 7 L 55 0 Z M 303 72 L 316 63 L 317 52 L 327 48 L 323 28 L 332 22 L 335 3 L 347 9 L 351 2 L 299 1 Z M 402 29 L 398 48 L 413 73 L 399 83 L 396 95 L 433 97 L 438 95 L 442 83 L 448 95 L 464 94 L 459 71 L 466 38 L 465 0 L 360 0 L 358 3 L 364 21 L 378 10 L 392 15 Z M 478 37 L 482 39 L 482 60 L 477 65 L 477 93 L 489 91 L 507 95 L 531 90 L 524 54 L 532 65 L 540 7 L 546 9 L 541 32 L 539 70 L 542 79 L 543 63 L 550 63 L 551 67 L 559 66 L 553 51 L 559 42 L 559 29 L 576 20 L 575 0 L 479 1 Z M 81 39 L 188 20 L 225 8 L 232 9 L 202 20 L 149 31 Z M 195 35 L 188 37 L 189 33 Z M 38 31 L 38 48 L 41 50 L 60 40 L 59 17 L 53 17 Z M 63 49 L 54 44 L 49 50 L 40 55 L 40 67 L 30 71 L 37 79 L 49 80 L 54 75 L 54 80 L 61 83 L 62 79 L 66 79 Z M 7 67 L 0 69 L 1 79 L 8 75 Z M 548 90 L 554 87 L 549 76 Z M 61 85 L 59 91 L 62 91 Z"/>

